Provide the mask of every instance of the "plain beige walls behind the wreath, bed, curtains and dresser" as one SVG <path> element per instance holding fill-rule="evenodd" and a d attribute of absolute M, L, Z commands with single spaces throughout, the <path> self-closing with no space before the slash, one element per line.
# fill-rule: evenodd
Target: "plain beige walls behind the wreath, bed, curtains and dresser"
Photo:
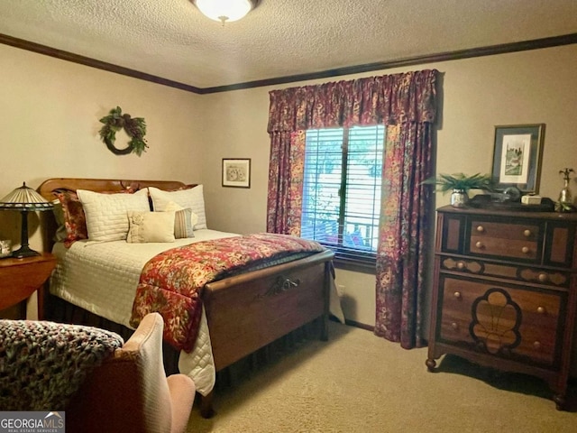
<path fill-rule="evenodd" d="M 272 88 L 197 96 L 4 45 L 0 68 L 0 196 L 23 180 L 35 188 L 50 177 L 178 179 L 205 185 L 211 228 L 265 230 Z M 558 170 L 577 170 L 577 45 L 410 70 L 430 68 L 442 73 L 437 171 L 490 172 L 495 125 L 545 123 L 540 192 L 556 198 L 563 186 Z M 115 156 L 100 142 L 98 119 L 114 106 L 146 119 L 151 147 L 142 158 Z M 251 189 L 221 186 L 222 158 L 252 159 Z M 577 193 L 574 182 L 572 188 Z M 449 197 L 436 199 L 442 206 Z M 19 217 L 5 214 L 11 213 L 0 213 L 0 237 L 16 241 Z M 374 325 L 374 277 L 339 270 L 337 283 L 346 318 Z"/>

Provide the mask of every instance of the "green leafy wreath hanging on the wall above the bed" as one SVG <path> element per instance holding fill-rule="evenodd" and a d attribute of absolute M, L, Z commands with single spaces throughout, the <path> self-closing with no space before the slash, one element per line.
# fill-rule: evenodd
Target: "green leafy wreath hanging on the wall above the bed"
<path fill-rule="evenodd" d="M 146 152 L 148 144 L 144 139 L 144 134 L 146 134 L 146 122 L 142 117 L 132 118 L 130 115 L 123 115 L 123 110 L 120 106 L 110 110 L 109 115 L 105 115 L 100 119 L 102 124 L 105 124 L 99 131 L 100 138 L 106 143 L 106 147 L 116 155 L 127 155 L 129 153 L 136 153 L 138 156 L 142 155 L 142 152 Z M 116 133 L 124 129 L 126 134 L 130 137 L 130 142 L 128 142 L 128 147 L 124 149 L 118 149 L 114 146 L 116 141 Z"/>

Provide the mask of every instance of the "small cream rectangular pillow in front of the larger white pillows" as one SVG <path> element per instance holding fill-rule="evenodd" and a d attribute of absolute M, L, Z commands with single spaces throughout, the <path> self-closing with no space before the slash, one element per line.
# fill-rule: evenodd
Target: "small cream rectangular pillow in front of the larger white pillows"
<path fill-rule="evenodd" d="M 128 212 L 126 242 L 174 242 L 174 212 Z"/>

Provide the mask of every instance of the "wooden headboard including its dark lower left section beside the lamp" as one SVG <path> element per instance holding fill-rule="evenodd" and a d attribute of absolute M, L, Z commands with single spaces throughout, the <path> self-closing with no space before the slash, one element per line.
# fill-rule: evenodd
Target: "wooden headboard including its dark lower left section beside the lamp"
<path fill-rule="evenodd" d="M 156 187 L 158 189 L 179 189 L 186 187 L 178 180 L 120 180 L 120 179 L 82 179 L 82 178 L 53 178 L 44 180 L 37 191 L 43 198 L 52 201 L 56 196 L 57 189 L 67 189 L 76 191 L 77 189 L 87 189 L 95 192 L 114 192 L 133 189 L 137 191 L 146 187 Z M 190 185 L 193 186 L 193 185 Z M 41 212 L 42 226 L 42 249 L 50 251 L 54 244 L 54 234 L 56 233 L 56 220 L 52 212 Z"/>

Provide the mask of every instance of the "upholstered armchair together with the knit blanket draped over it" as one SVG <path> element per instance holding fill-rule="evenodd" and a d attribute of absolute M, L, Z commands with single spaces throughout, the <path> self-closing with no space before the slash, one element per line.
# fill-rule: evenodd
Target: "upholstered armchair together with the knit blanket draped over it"
<path fill-rule="evenodd" d="M 0 320 L 0 410 L 60 411 L 72 433 L 177 433 L 195 384 L 166 377 L 158 313 L 125 343 L 97 327 Z"/>

